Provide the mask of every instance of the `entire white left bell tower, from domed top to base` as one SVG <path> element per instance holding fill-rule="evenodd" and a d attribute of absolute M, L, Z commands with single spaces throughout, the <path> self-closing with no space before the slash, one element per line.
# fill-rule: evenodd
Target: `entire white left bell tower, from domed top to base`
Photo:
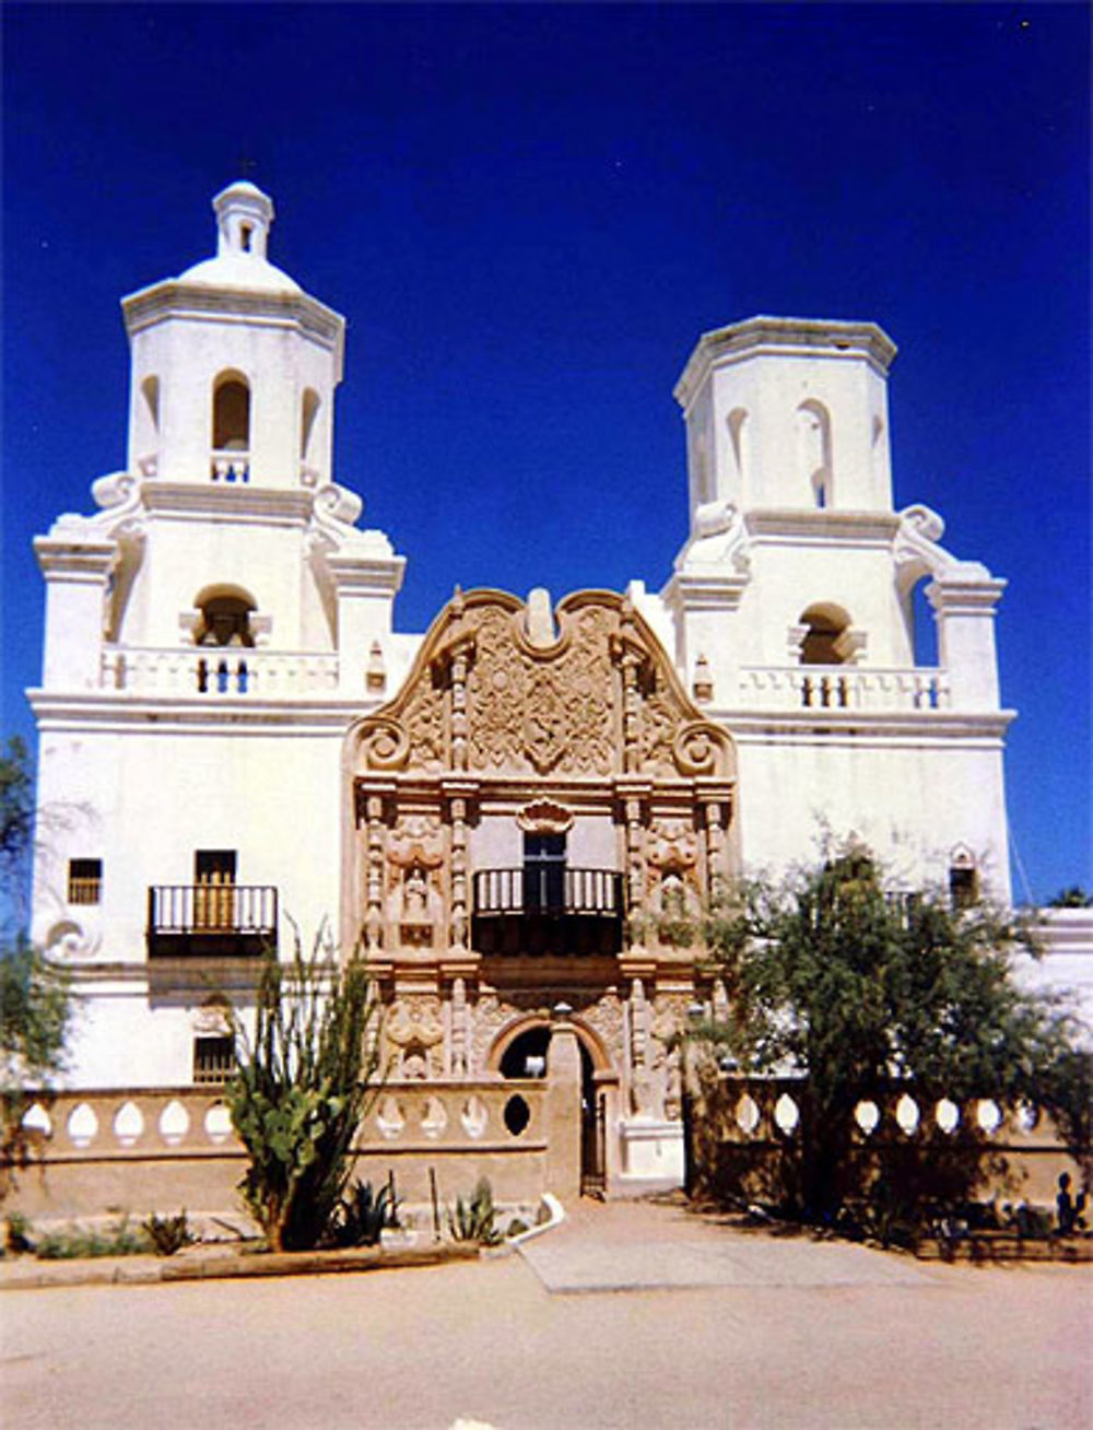
<path fill-rule="evenodd" d="M 214 256 L 121 303 L 126 469 L 34 542 L 39 801 L 67 814 L 33 934 L 90 984 L 74 1065 L 101 1085 L 121 1028 L 130 1074 L 177 1077 L 210 981 L 283 942 L 283 912 L 337 911 L 343 732 L 416 646 L 393 632 L 404 559 L 331 469 L 344 319 L 269 260 L 267 194 L 213 209 Z"/>

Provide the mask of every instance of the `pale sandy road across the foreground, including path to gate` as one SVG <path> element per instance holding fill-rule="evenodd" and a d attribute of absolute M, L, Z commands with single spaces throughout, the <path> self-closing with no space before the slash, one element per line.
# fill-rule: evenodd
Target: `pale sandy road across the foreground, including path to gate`
<path fill-rule="evenodd" d="M 586 1208 L 536 1264 L 9 1291 L 0 1419 L 6 1430 L 1093 1423 L 1093 1268 L 924 1266 L 807 1241 L 767 1243 L 764 1256 L 739 1236 L 660 1208 Z"/>

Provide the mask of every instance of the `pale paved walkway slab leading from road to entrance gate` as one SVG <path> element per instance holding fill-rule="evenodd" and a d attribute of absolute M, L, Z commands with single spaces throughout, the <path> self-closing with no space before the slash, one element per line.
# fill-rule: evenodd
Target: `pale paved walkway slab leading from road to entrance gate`
<path fill-rule="evenodd" d="M 929 1286 L 909 1257 L 727 1227 L 680 1204 L 580 1203 L 521 1256 L 552 1293 L 683 1287 Z"/>

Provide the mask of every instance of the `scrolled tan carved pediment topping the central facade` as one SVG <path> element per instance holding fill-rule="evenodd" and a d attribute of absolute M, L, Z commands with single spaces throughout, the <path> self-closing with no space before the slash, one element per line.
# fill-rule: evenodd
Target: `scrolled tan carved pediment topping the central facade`
<path fill-rule="evenodd" d="M 734 774 L 732 739 L 689 699 L 624 596 L 566 596 L 550 639 L 541 601 L 529 623 L 529 608 L 506 592 L 457 593 L 400 694 L 354 726 L 356 772 Z"/>

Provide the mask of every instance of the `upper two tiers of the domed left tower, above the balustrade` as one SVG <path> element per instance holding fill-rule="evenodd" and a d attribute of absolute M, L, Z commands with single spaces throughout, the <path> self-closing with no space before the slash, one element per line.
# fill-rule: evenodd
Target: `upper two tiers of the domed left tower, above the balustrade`
<path fill-rule="evenodd" d="M 344 319 L 269 262 L 267 194 L 234 183 L 213 209 L 216 256 L 121 303 L 127 470 L 96 483 L 99 516 L 63 516 L 37 542 L 63 611 L 47 632 L 46 685 L 71 678 L 79 648 L 86 679 L 97 684 L 106 662 L 116 688 L 129 689 L 140 664 L 129 648 L 220 632 L 226 644 L 337 652 L 339 686 L 363 691 L 373 644 L 390 636 L 404 563 L 381 532 L 356 528 L 361 502 L 333 480 Z M 77 532 L 111 546 L 96 568 L 104 631 L 87 592 L 90 556 L 79 593 L 60 556 Z M 247 681 L 260 674 L 249 669 Z"/>

